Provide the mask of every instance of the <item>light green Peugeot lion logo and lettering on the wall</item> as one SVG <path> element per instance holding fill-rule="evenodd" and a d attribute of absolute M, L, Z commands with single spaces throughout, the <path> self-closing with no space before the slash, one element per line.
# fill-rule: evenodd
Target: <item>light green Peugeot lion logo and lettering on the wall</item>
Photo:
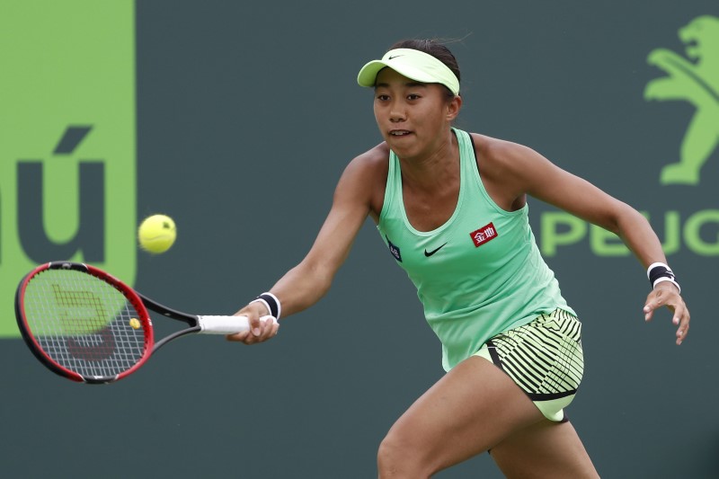
<path fill-rule="evenodd" d="M 677 36 L 686 45 L 684 56 L 663 48 L 649 53 L 649 65 L 664 75 L 649 81 L 644 100 L 688 102 L 695 108 L 679 147 L 679 157 L 668 157 L 669 164 L 661 168 L 660 187 L 698 187 L 702 167 L 719 149 L 719 17 L 698 16 L 679 28 Z M 698 256 L 719 256 L 716 234 L 719 209 L 685 208 L 644 212 L 644 216 L 657 231 L 667 255 L 687 251 Z M 617 235 L 564 211 L 543 213 L 539 227 L 540 249 L 545 256 L 556 256 L 564 247 L 583 243 L 597 256 L 630 254 Z"/>

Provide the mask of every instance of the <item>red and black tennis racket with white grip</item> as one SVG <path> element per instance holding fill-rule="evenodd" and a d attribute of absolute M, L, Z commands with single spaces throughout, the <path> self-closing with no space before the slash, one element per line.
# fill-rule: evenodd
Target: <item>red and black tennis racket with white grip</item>
<path fill-rule="evenodd" d="M 155 342 L 147 308 L 188 327 Z M 62 377 L 90 384 L 128 377 L 164 344 L 185 334 L 249 329 L 246 316 L 181 313 L 77 262 L 49 262 L 28 273 L 15 294 L 15 317 L 22 338 L 42 364 Z"/>

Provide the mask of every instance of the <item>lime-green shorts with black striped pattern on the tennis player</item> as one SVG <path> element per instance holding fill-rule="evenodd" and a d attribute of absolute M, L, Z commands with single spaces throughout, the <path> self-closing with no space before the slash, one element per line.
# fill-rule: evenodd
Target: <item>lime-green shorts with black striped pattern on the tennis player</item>
<path fill-rule="evenodd" d="M 584 372 L 581 323 L 557 309 L 497 334 L 475 353 L 501 368 L 550 421 L 566 421 Z"/>

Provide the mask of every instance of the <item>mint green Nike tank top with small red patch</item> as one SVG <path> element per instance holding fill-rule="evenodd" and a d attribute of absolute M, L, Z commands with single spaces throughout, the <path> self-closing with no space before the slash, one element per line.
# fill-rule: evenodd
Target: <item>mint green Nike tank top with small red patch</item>
<path fill-rule="evenodd" d="M 484 190 L 475 148 L 465 131 L 459 143 L 457 208 L 432 231 L 413 228 L 404 210 L 402 171 L 389 155 L 385 201 L 377 229 L 397 264 L 417 288 L 425 318 L 442 343 L 445 370 L 494 335 L 567 306 L 555 274 L 542 259 L 528 222 L 528 205 L 498 207 Z"/>

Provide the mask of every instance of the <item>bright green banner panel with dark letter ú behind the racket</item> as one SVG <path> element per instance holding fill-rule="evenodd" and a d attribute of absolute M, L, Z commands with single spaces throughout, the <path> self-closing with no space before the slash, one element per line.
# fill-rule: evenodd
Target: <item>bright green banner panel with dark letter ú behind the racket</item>
<path fill-rule="evenodd" d="M 0 5 L 0 337 L 41 262 L 136 274 L 132 0 Z"/>

